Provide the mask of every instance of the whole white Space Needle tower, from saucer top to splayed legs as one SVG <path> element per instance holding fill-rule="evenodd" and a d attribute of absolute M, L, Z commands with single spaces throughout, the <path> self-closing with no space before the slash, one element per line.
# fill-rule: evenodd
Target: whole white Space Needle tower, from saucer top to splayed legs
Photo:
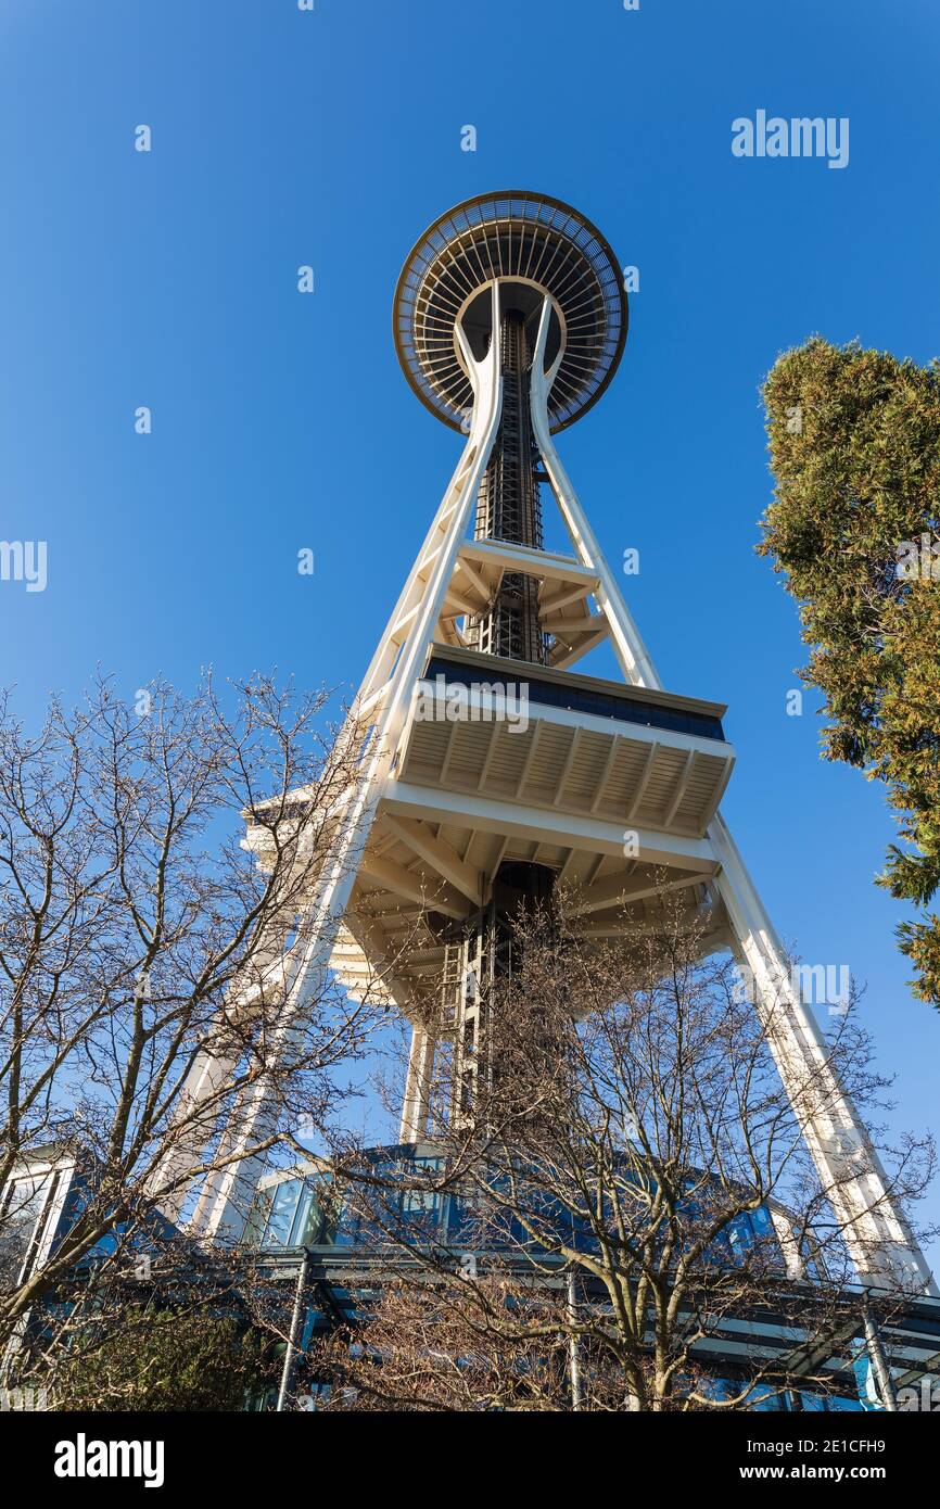
<path fill-rule="evenodd" d="M 355 736 L 371 738 L 312 925 L 282 966 L 278 1031 L 287 1052 L 327 970 L 353 997 L 379 978 L 413 1023 L 400 1135 L 421 1142 L 472 1114 L 487 982 L 515 910 L 563 880 L 585 937 L 638 936 L 659 925 L 665 872 L 703 946 L 747 966 L 860 1281 L 935 1293 L 718 810 L 735 762 L 726 709 L 664 690 L 555 447 L 610 385 L 626 327 L 611 247 L 543 195 L 469 199 L 406 260 L 398 356 L 465 445 L 350 712 Z M 564 554 L 543 546 L 543 493 Z M 622 682 L 573 670 L 602 641 Z M 225 1073 L 196 1064 L 192 1093 Z M 231 1157 L 261 1141 L 267 1115 L 252 1086 Z M 260 1171 L 246 1156 L 211 1177 L 204 1236 L 240 1230 Z"/>

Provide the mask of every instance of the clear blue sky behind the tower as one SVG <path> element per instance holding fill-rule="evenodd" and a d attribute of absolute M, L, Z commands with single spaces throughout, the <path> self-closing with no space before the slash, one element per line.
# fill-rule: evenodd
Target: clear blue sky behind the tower
<path fill-rule="evenodd" d="M 883 794 L 786 717 L 797 617 L 753 554 L 776 355 L 940 350 L 935 0 L 3 0 L 0 45 L 0 537 L 48 542 L 45 592 L 0 584 L 24 717 L 98 662 L 128 696 L 208 662 L 355 682 L 459 445 L 395 364 L 401 260 L 468 195 L 567 199 L 641 284 L 572 477 L 608 555 L 641 551 L 665 684 L 729 703 L 780 931 L 868 981 L 895 1121 L 940 1127 Z M 848 116 L 848 167 L 732 157 L 757 109 Z"/>

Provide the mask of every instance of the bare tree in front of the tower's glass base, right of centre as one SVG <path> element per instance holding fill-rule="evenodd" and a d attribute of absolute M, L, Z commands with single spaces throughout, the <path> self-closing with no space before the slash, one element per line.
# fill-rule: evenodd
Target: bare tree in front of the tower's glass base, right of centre
<path fill-rule="evenodd" d="M 759 1017 L 733 963 L 702 958 L 694 925 L 661 907 L 659 936 L 634 943 L 585 942 L 563 899 L 519 917 L 472 1105 L 451 1099 L 418 1160 L 341 1150 L 347 1219 L 395 1281 L 315 1360 L 332 1408 L 727 1409 L 833 1390 L 860 1296 L 798 1114 L 831 1076 L 794 1105 L 773 1010 Z M 881 1102 L 851 1010 L 830 1068 L 859 1105 Z M 917 1198 L 929 1139 L 883 1151 L 889 1198 Z M 742 1320 L 718 1385 L 709 1352 Z"/>

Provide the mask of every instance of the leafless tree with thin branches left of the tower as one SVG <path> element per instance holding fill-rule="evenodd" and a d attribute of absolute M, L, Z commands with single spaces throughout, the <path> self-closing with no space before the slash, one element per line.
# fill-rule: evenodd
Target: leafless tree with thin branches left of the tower
<path fill-rule="evenodd" d="M 275 1052 L 282 957 L 308 942 L 355 774 L 326 702 L 264 678 L 222 699 L 208 678 L 192 699 L 157 684 L 128 706 L 100 679 L 35 738 L 0 706 L 0 1340 L 106 1237 L 178 1215 L 232 1163 L 222 1130 L 244 1094 L 270 1106 L 249 1156 L 293 1156 L 333 1118 L 338 1070 L 377 1019 L 368 990 L 353 1002 L 324 973 L 293 1058 Z M 30 1160 L 48 1145 L 74 1150 L 81 1198 L 20 1272 Z"/>

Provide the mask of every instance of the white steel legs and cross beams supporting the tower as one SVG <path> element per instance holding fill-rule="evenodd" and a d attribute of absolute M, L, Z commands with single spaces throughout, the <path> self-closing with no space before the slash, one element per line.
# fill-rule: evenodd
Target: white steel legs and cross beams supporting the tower
<path fill-rule="evenodd" d="M 499 309 L 501 281 L 493 278 L 493 332 L 499 329 Z M 576 854 L 582 851 L 596 856 L 599 865 L 611 866 L 616 856 L 622 856 L 623 828 L 628 824 L 635 827 L 634 815 L 641 812 L 647 782 L 658 768 L 658 759 L 662 758 L 661 742 L 670 742 L 668 735 L 649 739 L 649 751 L 641 753 L 632 795 L 623 807 L 620 824 L 599 810 L 604 780 L 585 809 L 573 807 L 566 798 L 566 782 L 579 759 L 582 736 L 585 741 L 596 736 L 590 718 L 582 720 L 582 727 L 570 729 L 560 785 L 548 804 L 533 803 L 527 795 L 530 791 L 527 783 L 533 779 L 539 758 L 537 729 L 519 765 L 515 797 L 511 792 L 498 797 L 484 789 L 490 762 L 499 753 L 499 730 L 490 738 L 481 756 L 472 791 L 454 789 L 453 783 L 448 783 L 448 765 L 454 753 L 453 738 L 444 747 L 436 783 L 416 782 L 404 770 L 403 750 L 412 732 L 415 693 L 432 644 L 459 647 L 463 643 L 457 619 L 484 611 L 493 576 L 501 570 L 522 570 L 540 578 L 542 628 L 558 635 L 552 652 L 555 670 L 573 664 L 599 638 L 608 635 L 623 679 L 635 688 L 662 693 L 662 684 L 623 601 L 619 581 L 601 551 L 552 441 L 548 395 L 563 352 L 558 352 L 551 370 L 545 371 L 551 312 L 552 303 L 546 296 L 531 370 L 531 418 L 545 474 L 570 536 L 575 560 L 505 542 L 466 542 L 483 472 L 499 427 L 502 383 L 499 341 L 493 338 L 487 356 L 477 361 L 457 324 L 462 365 L 474 391 L 469 436 L 353 703 L 347 724 L 349 736 L 361 736 L 368 723 L 373 727 L 373 739 L 346 806 L 335 860 L 323 874 L 311 904 L 311 919 L 305 928 L 308 942 L 296 958 L 291 952 L 285 960 L 287 1005 L 276 1028 L 282 1067 L 290 1062 L 302 1037 L 303 1007 L 315 997 L 326 979 L 336 931 L 350 907 L 350 895 L 359 874 L 373 886 L 386 887 L 404 904 L 419 901 L 424 895 L 422 869 L 418 866 L 427 866 L 441 881 L 436 905 L 459 917 L 480 904 L 484 880 L 478 868 L 469 862 L 468 847 L 462 845 L 457 851 L 454 844 L 442 836 L 441 828 L 453 831 L 463 827 L 471 836 L 471 844 L 478 839 L 481 845 L 489 845 L 490 875 L 510 842 L 530 844 L 531 853 L 546 847 L 552 853 L 566 856 L 558 860 L 563 874 L 569 866 L 573 868 Z M 590 598 L 596 604 L 593 614 Z M 564 610 L 572 605 L 582 614 L 576 622 L 564 617 Z M 637 830 L 641 856 L 647 863 L 671 866 L 670 884 L 691 898 L 690 905 L 708 907 L 715 919 L 708 946 L 730 943 L 739 960 L 751 970 L 757 987 L 756 1010 L 765 1025 L 770 1047 L 807 1147 L 827 1191 L 831 1191 L 831 1204 L 845 1231 L 860 1281 L 890 1284 L 904 1280 L 913 1289 L 937 1293 L 905 1216 L 890 1197 L 884 1169 L 871 1139 L 849 1096 L 836 1080 L 815 1016 L 791 982 L 786 954 L 724 819 L 712 807 L 709 812 L 714 812 L 714 816 L 699 833 L 688 828 L 679 834 L 670 831 L 687 791 L 702 768 L 702 751 L 694 747 L 694 741 L 685 742 L 688 748 L 677 744 L 680 750 L 677 774 L 659 827 L 643 822 Z M 614 771 L 622 758 L 622 744 L 620 735 L 613 739 L 604 762 L 604 777 Z M 718 797 L 715 803 L 717 800 Z M 685 810 L 688 812 L 688 807 Z M 383 824 L 379 828 L 380 851 L 373 850 L 367 856 L 370 834 L 377 824 Z M 385 853 L 389 847 L 397 847 L 401 857 L 394 859 Z M 585 916 L 585 928 L 593 930 L 596 936 L 607 936 L 611 922 L 604 916 L 605 907 L 610 910 L 617 902 L 631 901 L 641 905 L 646 895 L 649 884 L 644 875 L 626 871 L 620 857 L 617 868 L 608 868 L 601 877 L 596 877 L 596 869 L 588 866 L 588 872 L 581 877 L 576 905 Z M 637 931 L 643 931 L 644 927 L 647 924 L 638 917 Z M 376 969 L 382 970 L 385 966 L 382 927 L 377 922 L 364 924 L 362 919 L 353 924 L 350 913 L 349 931 L 364 955 L 376 955 Z M 403 1000 L 406 996 L 407 990 L 398 991 L 395 999 Z M 416 1011 L 400 1132 L 404 1141 L 419 1141 L 424 1135 L 433 1067 L 435 1041 Z M 201 1086 L 216 1083 L 220 1071 L 220 1065 L 208 1059 L 196 1062 L 187 1096 L 198 1099 Z M 261 1162 L 252 1156 L 252 1148 L 272 1135 L 272 1118 L 270 1085 L 261 1077 L 246 1089 L 232 1115 L 225 1135 L 226 1166 L 220 1168 L 202 1191 L 195 1230 L 205 1237 L 240 1228 Z"/>

